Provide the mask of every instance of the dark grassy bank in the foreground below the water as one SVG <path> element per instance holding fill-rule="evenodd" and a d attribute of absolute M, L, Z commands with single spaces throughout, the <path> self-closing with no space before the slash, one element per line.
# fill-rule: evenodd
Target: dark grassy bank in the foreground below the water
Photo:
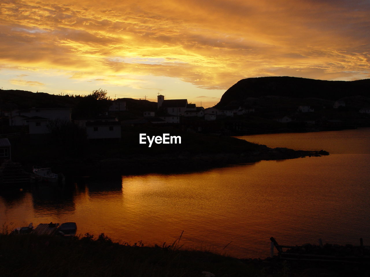
<path fill-rule="evenodd" d="M 181 249 L 181 237 L 154 247 L 141 242 L 33 235 L 0 235 L 0 275 L 48 277 L 111 276 L 368 276 L 366 264 L 272 259 L 236 259 Z"/>

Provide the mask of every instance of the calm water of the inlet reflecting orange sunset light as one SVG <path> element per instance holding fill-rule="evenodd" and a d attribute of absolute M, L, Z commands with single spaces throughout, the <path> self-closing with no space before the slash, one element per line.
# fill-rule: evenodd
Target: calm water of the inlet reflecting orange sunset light
<path fill-rule="evenodd" d="M 332 155 L 2 193 L 0 223 L 73 221 L 81 234 L 145 245 L 170 244 L 184 230 L 184 247 L 236 257 L 268 256 L 270 236 L 370 244 L 370 129 L 240 138 Z"/>

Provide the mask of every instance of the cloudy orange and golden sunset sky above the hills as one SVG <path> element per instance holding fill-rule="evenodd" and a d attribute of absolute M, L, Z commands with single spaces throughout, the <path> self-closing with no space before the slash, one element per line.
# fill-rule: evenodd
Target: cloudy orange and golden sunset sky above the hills
<path fill-rule="evenodd" d="M 243 78 L 370 78 L 369 0 L 1 0 L 0 86 L 205 107 Z"/>

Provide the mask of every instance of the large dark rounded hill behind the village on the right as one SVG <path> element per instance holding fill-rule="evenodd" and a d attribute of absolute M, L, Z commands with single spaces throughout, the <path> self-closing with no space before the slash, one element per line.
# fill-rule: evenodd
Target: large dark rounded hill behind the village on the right
<path fill-rule="evenodd" d="M 216 107 L 243 105 L 247 98 L 275 95 L 289 98 L 337 100 L 346 96 L 370 97 L 370 79 L 323 81 L 297 77 L 259 77 L 242 79 L 226 90 Z"/>

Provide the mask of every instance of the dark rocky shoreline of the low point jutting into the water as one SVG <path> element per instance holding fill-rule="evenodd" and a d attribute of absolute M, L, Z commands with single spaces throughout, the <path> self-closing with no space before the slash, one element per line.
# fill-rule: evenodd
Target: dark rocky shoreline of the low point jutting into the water
<path fill-rule="evenodd" d="M 66 176 L 107 177 L 158 174 L 181 174 L 222 168 L 245 163 L 257 163 L 263 160 L 287 160 L 301 157 L 320 157 L 329 155 L 328 152 L 293 150 L 289 148 L 269 148 L 258 145 L 254 151 L 241 153 L 206 153 L 192 155 L 188 152 L 177 154 L 162 154 L 155 157 L 150 155 L 130 155 L 122 158 L 106 158 L 92 161 L 57 161 L 48 163 L 53 171 L 60 171 Z M 55 170 L 54 170 L 55 168 Z"/>

